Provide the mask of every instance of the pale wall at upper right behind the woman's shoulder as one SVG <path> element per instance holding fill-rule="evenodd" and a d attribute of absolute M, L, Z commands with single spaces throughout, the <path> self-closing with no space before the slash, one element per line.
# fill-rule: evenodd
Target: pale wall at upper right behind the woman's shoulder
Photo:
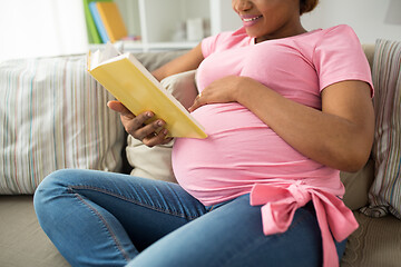
<path fill-rule="evenodd" d="M 321 0 L 302 21 L 307 30 L 349 24 L 362 43 L 378 38 L 401 41 L 401 0 Z"/>

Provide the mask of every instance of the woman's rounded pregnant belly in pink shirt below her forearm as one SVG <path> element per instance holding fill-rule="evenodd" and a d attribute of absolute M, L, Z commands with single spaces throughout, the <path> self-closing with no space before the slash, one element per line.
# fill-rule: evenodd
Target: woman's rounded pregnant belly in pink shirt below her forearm
<path fill-rule="evenodd" d="M 193 115 L 208 138 L 178 138 L 173 169 L 178 182 L 200 201 L 211 195 L 239 195 L 268 179 L 301 178 L 321 168 L 238 103 L 207 105 Z"/>

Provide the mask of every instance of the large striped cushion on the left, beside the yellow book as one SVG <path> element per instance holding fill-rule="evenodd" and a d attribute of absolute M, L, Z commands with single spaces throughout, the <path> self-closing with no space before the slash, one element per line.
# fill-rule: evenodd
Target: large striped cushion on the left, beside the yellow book
<path fill-rule="evenodd" d="M 0 194 L 32 194 L 51 171 L 118 171 L 124 128 L 86 56 L 0 63 Z"/>

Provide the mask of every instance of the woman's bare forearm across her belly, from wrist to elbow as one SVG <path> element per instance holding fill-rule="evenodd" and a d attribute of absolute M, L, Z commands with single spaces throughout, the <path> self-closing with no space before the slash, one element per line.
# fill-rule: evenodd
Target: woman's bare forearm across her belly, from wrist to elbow
<path fill-rule="evenodd" d="M 348 171 L 361 168 L 372 142 L 372 123 L 340 117 L 288 100 L 258 82 L 238 90 L 247 107 L 294 149 L 323 165 Z M 369 117 L 372 110 L 369 110 Z"/>

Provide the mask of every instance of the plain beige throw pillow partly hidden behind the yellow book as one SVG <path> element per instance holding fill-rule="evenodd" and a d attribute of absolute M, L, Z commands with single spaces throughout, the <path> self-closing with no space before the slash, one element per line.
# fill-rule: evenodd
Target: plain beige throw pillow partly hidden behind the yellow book
<path fill-rule="evenodd" d="M 197 96 L 195 70 L 167 77 L 162 80 L 162 85 L 185 108 L 189 108 Z M 130 175 L 176 182 L 172 168 L 173 144 L 174 140 L 167 145 L 149 148 L 141 141 L 128 136 L 127 159 L 134 168 Z"/>

